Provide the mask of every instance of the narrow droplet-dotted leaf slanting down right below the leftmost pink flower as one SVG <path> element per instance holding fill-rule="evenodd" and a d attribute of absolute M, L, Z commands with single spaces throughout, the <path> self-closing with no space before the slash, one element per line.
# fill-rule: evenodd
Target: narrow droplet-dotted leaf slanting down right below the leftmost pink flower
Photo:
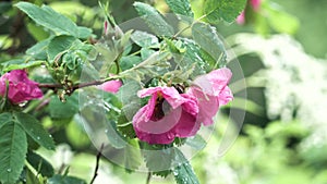
<path fill-rule="evenodd" d="M 40 122 L 28 113 L 15 112 L 16 122 L 19 122 L 24 131 L 40 146 L 46 149 L 55 150 L 56 146 L 51 135 L 45 131 Z"/>

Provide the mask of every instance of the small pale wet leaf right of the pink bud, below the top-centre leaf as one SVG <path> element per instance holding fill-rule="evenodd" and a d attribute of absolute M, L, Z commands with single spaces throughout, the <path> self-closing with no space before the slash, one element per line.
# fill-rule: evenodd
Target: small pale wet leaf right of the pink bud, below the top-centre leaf
<path fill-rule="evenodd" d="M 135 30 L 131 35 L 131 39 L 140 47 L 158 47 L 159 40 L 155 35 L 148 34 L 146 32 Z"/>

